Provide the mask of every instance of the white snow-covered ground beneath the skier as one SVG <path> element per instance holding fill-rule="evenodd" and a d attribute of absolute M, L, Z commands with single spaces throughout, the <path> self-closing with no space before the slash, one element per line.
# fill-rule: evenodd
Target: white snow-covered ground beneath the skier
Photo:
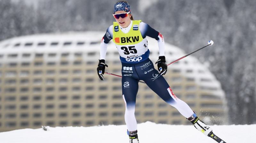
<path fill-rule="evenodd" d="M 253 125 L 213 125 L 213 132 L 227 143 L 255 143 Z M 138 124 L 140 143 L 217 143 L 193 125 Z M 157 137 L 157 139 L 156 139 Z M 1 143 L 128 143 L 126 125 L 50 127 L 0 132 Z"/>

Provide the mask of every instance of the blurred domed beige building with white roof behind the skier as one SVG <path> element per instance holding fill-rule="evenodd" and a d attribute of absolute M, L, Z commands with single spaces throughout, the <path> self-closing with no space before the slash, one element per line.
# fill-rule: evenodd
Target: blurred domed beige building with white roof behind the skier
<path fill-rule="evenodd" d="M 125 124 L 121 78 L 97 75 L 104 32 L 42 34 L 0 42 L 0 132 L 45 126 Z M 158 59 L 157 41 L 148 38 L 150 59 Z M 204 45 L 202 45 L 204 46 Z M 200 48 L 200 47 L 199 47 Z M 166 43 L 166 60 L 184 55 Z M 121 62 L 109 43 L 106 72 L 121 75 Z M 156 66 L 155 66 L 156 67 Z M 164 75 L 174 94 L 208 124 L 226 122 L 220 83 L 193 56 L 168 66 Z M 136 119 L 191 124 L 146 84 L 139 83 Z"/>

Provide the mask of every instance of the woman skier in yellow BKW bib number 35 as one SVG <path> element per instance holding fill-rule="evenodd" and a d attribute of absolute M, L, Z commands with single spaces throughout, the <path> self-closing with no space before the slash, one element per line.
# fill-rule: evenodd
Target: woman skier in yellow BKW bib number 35
<path fill-rule="evenodd" d="M 165 102 L 178 109 L 184 117 L 194 124 L 197 130 L 208 135 L 212 129 L 198 119 L 196 113 L 190 109 L 187 103 L 173 94 L 172 89 L 162 76 L 167 72 L 163 35 L 141 20 L 133 20 L 130 5 L 126 1 L 119 1 L 114 5 L 113 16 L 116 22 L 108 27 L 100 44 L 100 62 L 97 72 L 99 78 L 104 80 L 105 67 L 108 67 L 105 64 L 107 46 L 108 42 L 113 39 L 122 63 L 122 94 L 126 105 L 124 118 L 130 143 L 139 143 L 137 122 L 134 115 L 139 80 L 143 80 Z M 159 72 L 148 58 L 149 50 L 146 36 L 158 41 L 159 59 L 156 64 Z"/>

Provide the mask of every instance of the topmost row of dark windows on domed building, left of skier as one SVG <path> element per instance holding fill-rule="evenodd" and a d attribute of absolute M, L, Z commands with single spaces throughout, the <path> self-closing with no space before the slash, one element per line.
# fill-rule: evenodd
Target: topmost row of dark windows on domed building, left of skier
<path fill-rule="evenodd" d="M 21 42 L 17 42 L 15 44 L 6 44 L 4 45 L 4 48 L 5 47 L 8 47 L 8 46 L 12 46 L 14 48 L 18 48 L 18 47 L 31 47 L 31 46 L 37 46 L 37 47 L 44 47 L 44 46 L 71 46 L 71 45 L 76 45 L 76 46 L 83 46 L 85 45 L 86 42 L 85 41 L 77 41 L 77 42 L 72 42 L 72 41 L 66 41 L 66 42 L 58 42 L 58 41 L 54 41 L 54 42 L 38 42 L 38 43 L 33 43 L 33 42 L 26 42 L 26 43 L 21 43 Z M 88 43 L 90 45 L 93 45 L 93 44 L 99 44 L 98 41 L 92 41 L 90 43 Z"/>

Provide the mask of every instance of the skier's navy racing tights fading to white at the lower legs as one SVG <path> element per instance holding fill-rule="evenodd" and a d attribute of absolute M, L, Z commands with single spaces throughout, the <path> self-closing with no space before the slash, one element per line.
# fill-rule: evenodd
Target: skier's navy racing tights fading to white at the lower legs
<path fill-rule="evenodd" d="M 125 123 L 128 131 L 137 130 L 137 121 L 134 115 L 136 95 L 139 80 L 143 80 L 165 102 L 172 105 L 186 118 L 194 114 L 187 103 L 178 99 L 163 76 L 158 74 L 150 59 L 136 64 L 122 63 L 122 92 L 125 102 Z"/>

